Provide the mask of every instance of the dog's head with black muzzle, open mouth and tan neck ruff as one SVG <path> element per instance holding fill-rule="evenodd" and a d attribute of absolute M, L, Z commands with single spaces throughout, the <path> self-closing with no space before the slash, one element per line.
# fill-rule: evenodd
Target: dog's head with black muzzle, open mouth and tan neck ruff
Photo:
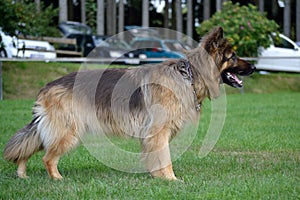
<path fill-rule="evenodd" d="M 247 76 L 254 72 L 254 65 L 240 59 L 229 41 L 223 36 L 222 27 L 216 28 L 203 38 L 198 48 L 187 52 L 191 64 L 199 70 L 210 97 L 219 95 L 219 83 L 242 87 L 237 75 Z"/>

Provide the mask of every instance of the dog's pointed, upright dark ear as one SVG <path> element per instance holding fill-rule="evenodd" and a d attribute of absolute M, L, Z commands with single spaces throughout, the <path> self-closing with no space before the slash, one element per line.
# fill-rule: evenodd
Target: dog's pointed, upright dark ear
<path fill-rule="evenodd" d="M 202 42 L 202 47 L 209 53 L 213 53 L 217 48 L 220 47 L 223 42 L 223 28 L 221 26 L 214 29 L 209 33 Z"/>

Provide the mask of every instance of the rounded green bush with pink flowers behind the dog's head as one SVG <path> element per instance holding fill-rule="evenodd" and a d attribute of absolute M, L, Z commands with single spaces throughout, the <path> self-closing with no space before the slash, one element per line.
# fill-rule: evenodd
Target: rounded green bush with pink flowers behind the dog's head
<path fill-rule="evenodd" d="M 239 56 L 246 57 L 257 56 L 259 46 L 268 47 L 271 44 L 269 35 L 279 28 L 275 21 L 261 14 L 256 6 L 240 6 L 231 1 L 225 2 L 221 11 L 204 21 L 197 33 L 203 36 L 215 26 L 222 26 Z"/>

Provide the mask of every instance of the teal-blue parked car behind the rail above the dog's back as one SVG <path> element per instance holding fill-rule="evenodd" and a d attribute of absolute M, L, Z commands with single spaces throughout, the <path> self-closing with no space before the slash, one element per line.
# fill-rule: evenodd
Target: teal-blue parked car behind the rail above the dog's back
<path fill-rule="evenodd" d="M 135 38 L 130 44 L 133 50 L 146 55 L 147 58 L 183 58 L 181 52 L 171 51 L 164 40 L 157 38 Z"/>

